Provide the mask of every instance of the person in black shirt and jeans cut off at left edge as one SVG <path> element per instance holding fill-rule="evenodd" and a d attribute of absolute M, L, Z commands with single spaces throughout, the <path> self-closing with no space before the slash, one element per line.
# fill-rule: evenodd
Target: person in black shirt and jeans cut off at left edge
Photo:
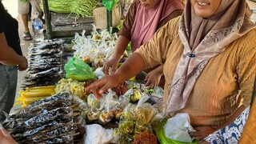
<path fill-rule="evenodd" d="M 0 0 L 0 122 L 2 110 L 10 112 L 16 96 L 18 70 L 26 70 L 28 63 L 22 56 L 18 37 L 18 22 L 12 18 Z"/>

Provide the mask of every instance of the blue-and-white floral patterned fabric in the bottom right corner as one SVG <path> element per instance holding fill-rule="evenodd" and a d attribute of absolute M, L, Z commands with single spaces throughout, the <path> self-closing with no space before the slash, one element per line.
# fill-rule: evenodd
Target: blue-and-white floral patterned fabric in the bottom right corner
<path fill-rule="evenodd" d="M 210 142 L 211 144 L 224 144 L 224 143 L 238 143 L 241 138 L 242 130 L 246 125 L 250 106 L 243 110 L 242 114 L 238 116 L 229 126 L 217 130 L 214 134 L 208 135 L 202 141 Z"/>

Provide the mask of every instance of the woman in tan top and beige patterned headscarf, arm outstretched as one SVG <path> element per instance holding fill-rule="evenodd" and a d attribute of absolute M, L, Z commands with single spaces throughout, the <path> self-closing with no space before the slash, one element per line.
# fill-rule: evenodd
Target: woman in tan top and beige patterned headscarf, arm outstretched
<path fill-rule="evenodd" d="M 167 22 L 114 74 L 85 91 L 101 98 L 110 87 L 163 64 L 163 110 L 189 114 L 196 130 L 191 134 L 200 141 L 250 106 L 255 27 L 246 0 L 187 1 L 182 17 Z"/>

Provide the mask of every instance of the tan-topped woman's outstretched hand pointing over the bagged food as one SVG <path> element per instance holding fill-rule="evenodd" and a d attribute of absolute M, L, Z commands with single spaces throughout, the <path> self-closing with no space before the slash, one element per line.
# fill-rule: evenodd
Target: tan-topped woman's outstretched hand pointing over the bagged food
<path fill-rule="evenodd" d="M 96 98 L 102 98 L 102 94 L 108 90 L 109 88 L 112 88 L 114 86 L 117 86 L 119 83 L 118 76 L 116 74 L 108 75 L 104 78 L 98 79 L 97 81 L 90 84 L 90 86 L 87 86 L 85 88 L 85 92 L 87 94 L 90 94 L 92 92 Z"/>

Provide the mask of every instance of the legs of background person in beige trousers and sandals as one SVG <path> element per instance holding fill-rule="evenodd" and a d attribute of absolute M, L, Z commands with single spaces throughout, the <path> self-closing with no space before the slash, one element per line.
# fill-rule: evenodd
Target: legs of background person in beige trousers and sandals
<path fill-rule="evenodd" d="M 32 40 L 28 24 L 28 13 L 30 11 L 30 4 L 32 6 L 31 16 L 34 15 L 35 12 L 38 12 L 38 18 L 42 19 L 42 10 L 39 6 L 40 0 L 18 0 L 18 14 L 22 15 L 22 22 L 25 29 L 23 34 L 23 40 L 25 41 Z"/>

